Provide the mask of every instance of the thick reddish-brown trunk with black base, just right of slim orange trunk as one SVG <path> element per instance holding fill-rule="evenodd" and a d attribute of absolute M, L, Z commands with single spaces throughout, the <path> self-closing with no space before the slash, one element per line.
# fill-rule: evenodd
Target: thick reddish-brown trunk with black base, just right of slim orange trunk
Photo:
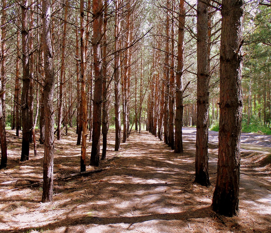
<path fill-rule="evenodd" d="M 103 0 L 93 1 L 93 65 L 95 73 L 93 98 L 93 133 L 90 164 L 99 166 L 100 163 L 100 136 L 102 115 L 102 57 L 101 39 L 103 35 Z"/>

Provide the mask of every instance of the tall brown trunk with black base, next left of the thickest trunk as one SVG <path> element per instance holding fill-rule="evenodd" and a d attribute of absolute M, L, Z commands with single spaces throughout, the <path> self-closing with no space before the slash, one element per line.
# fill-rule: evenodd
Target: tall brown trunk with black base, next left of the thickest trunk
<path fill-rule="evenodd" d="M 197 132 L 195 182 L 209 186 L 208 119 L 209 119 L 209 52 L 208 52 L 209 0 L 197 5 Z"/>

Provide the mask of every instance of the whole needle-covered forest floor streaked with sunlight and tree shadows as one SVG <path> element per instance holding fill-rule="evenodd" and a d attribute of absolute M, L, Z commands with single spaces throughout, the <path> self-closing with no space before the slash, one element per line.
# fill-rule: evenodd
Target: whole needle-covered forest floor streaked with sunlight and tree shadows
<path fill-rule="evenodd" d="M 100 173 L 54 183 L 53 202 L 41 203 L 42 186 L 18 179 L 42 179 L 43 146 L 20 162 L 21 139 L 8 135 L 8 167 L 0 170 L 0 232 L 271 232 L 271 157 L 268 138 L 242 137 L 240 211 L 228 218 L 210 205 L 216 180 L 217 133 L 210 132 L 211 186 L 194 184 L 195 128 L 183 129 L 184 154 L 153 135 L 132 132 L 114 152 L 110 129 L 107 159 Z M 37 138 L 39 135 L 37 134 Z M 247 140 L 246 140 L 247 139 Z M 74 129 L 55 141 L 55 177 L 79 172 L 81 146 Z M 263 144 L 258 142 L 266 141 Z M 271 139 L 269 138 L 269 142 Z M 248 142 L 245 144 L 245 142 Z M 89 161 L 91 143 L 88 143 Z M 95 169 L 87 166 L 87 170 Z M 17 190 L 10 190 L 19 188 Z"/>

